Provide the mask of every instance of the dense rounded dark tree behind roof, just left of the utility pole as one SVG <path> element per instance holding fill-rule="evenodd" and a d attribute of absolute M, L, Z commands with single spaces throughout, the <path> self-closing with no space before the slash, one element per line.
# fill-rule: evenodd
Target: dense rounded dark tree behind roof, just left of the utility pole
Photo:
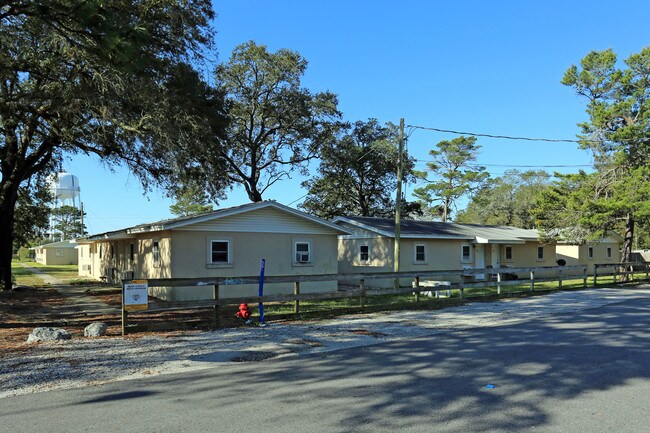
<path fill-rule="evenodd" d="M 338 215 L 391 217 L 395 215 L 399 139 L 393 124 L 376 119 L 358 121 L 320 155 L 318 176 L 304 181 L 308 196 L 302 209 L 322 218 Z M 403 155 L 404 179 L 413 178 L 414 161 Z M 402 215 L 419 206 L 403 203 Z"/>

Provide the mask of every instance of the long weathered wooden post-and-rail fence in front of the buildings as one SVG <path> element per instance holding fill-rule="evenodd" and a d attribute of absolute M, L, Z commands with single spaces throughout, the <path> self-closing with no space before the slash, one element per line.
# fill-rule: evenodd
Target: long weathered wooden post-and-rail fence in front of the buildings
<path fill-rule="evenodd" d="M 642 271 L 645 271 L 645 279 L 648 279 L 650 271 L 650 264 L 639 263 L 599 263 L 594 264 L 593 271 L 593 285 L 598 284 L 598 277 L 612 276 L 614 284 L 617 283 L 617 278 L 621 281 L 629 275 L 638 273 L 638 267 L 641 265 Z M 611 269 L 610 272 L 603 272 L 603 270 Z M 539 266 L 539 267 L 501 267 L 501 268 L 481 268 L 481 269 L 453 269 L 453 270 L 436 270 L 436 271 L 421 271 L 421 272 L 368 272 L 368 273 L 354 273 L 354 274 L 320 274 L 320 275 L 281 275 L 281 276 L 264 276 L 264 284 L 277 284 L 277 283 L 292 283 L 293 293 L 264 295 L 264 296 L 238 296 L 231 298 L 223 298 L 219 296 L 219 288 L 223 286 L 233 286 L 242 284 L 258 284 L 259 276 L 242 276 L 242 277 L 210 277 L 210 278 L 158 278 L 148 279 L 148 287 L 212 287 L 212 299 L 193 300 L 193 301 L 170 301 L 170 302 L 152 302 L 146 311 L 164 311 L 175 309 L 193 309 L 193 308 L 213 308 L 214 309 L 214 324 L 216 327 L 220 326 L 220 308 L 227 305 L 236 305 L 240 303 L 267 303 L 267 302 L 293 302 L 294 313 L 300 313 L 300 301 L 318 301 L 318 300 L 331 300 L 340 298 L 354 298 L 359 297 L 359 307 L 361 310 L 365 307 L 365 301 L 368 296 L 379 295 L 399 295 L 399 294 L 414 294 L 415 301 L 419 301 L 422 292 L 441 292 L 447 290 L 456 290 L 461 299 L 465 298 L 465 290 L 472 288 L 483 287 L 496 287 L 497 295 L 501 295 L 501 288 L 504 286 L 515 285 L 528 285 L 529 291 L 535 290 L 535 284 L 541 282 L 558 282 L 558 288 L 562 288 L 563 282 L 567 279 L 582 279 L 583 287 L 587 287 L 588 280 L 588 266 L 587 265 L 574 265 L 574 266 Z M 529 278 L 517 278 L 513 280 L 505 279 L 505 276 L 525 274 Z M 541 274 L 541 275 L 540 275 Z M 551 276 L 549 276 L 551 274 Z M 476 275 L 489 276 L 486 280 L 474 280 L 471 278 Z M 458 282 L 446 282 L 447 284 L 438 287 L 423 286 L 422 283 L 427 280 L 444 279 L 458 280 Z M 450 278 L 451 277 L 451 278 Z M 366 287 L 367 281 L 376 279 L 412 279 L 412 286 L 397 287 L 390 289 L 368 289 Z M 132 280 L 123 281 L 123 294 L 124 287 Z M 323 282 L 323 281 L 337 281 L 341 282 L 357 282 L 354 284 L 355 288 L 336 291 L 336 292 L 323 292 L 323 293 L 300 293 L 300 285 L 305 282 Z M 122 334 L 127 331 L 128 326 L 128 313 L 125 310 L 124 302 L 122 306 Z"/>

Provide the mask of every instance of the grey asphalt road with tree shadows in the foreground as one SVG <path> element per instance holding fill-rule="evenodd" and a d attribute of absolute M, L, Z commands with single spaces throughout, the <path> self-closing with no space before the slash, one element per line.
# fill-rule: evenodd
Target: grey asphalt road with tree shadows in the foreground
<path fill-rule="evenodd" d="M 650 300 L 630 301 L 0 399 L 0 431 L 647 432 L 649 376 Z"/>

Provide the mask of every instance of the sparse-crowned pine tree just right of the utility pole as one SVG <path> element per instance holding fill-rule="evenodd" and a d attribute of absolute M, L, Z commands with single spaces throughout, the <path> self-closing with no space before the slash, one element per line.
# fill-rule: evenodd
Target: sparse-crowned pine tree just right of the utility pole
<path fill-rule="evenodd" d="M 489 174 L 485 167 L 476 164 L 481 148 L 476 144 L 476 137 L 444 140 L 436 147 L 429 151 L 433 161 L 427 163 L 427 171 L 433 175 L 433 180 L 427 179 L 427 172 L 419 172 L 427 184 L 416 188 L 413 194 L 426 206 L 430 215 L 439 216 L 446 222 L 458 199 L 480 188 Z"/>

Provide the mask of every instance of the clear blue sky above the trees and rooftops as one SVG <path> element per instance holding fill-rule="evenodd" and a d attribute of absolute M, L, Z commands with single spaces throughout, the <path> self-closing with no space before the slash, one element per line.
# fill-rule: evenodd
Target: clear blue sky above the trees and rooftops
<path fill-rule="evenodd" d="M 407 125 L 496 135 L 575 138 L 585 101 L 560 84 L 564 71 L 590 50 L 612 48 L 622 60 L 650 45 L 647 0 L 227 0 L 214 8 L 220 60 L 247 40 L 296 50 L 309 61 L 303 85 L 338 94 L 346 120 L 403 117 Z M 437 142 L 453 137 L 414 131 L 409 151 L 424 161 Z M 571 143 L 478 143 L 484 164 L 591 163 Z M 125 170 L 111 172 L 86 156 L 64 169 L 79 177 L 91 233 L 170 217 L 171 201 L 161 191 L 144 195 Z M 498 176 L 507 167 L 488 169 Z M 297 179 L 276 184 L 265 198 L 288 204 L 304 193 Z M 246 202 L 235 190 L 219 206 Z"/>

